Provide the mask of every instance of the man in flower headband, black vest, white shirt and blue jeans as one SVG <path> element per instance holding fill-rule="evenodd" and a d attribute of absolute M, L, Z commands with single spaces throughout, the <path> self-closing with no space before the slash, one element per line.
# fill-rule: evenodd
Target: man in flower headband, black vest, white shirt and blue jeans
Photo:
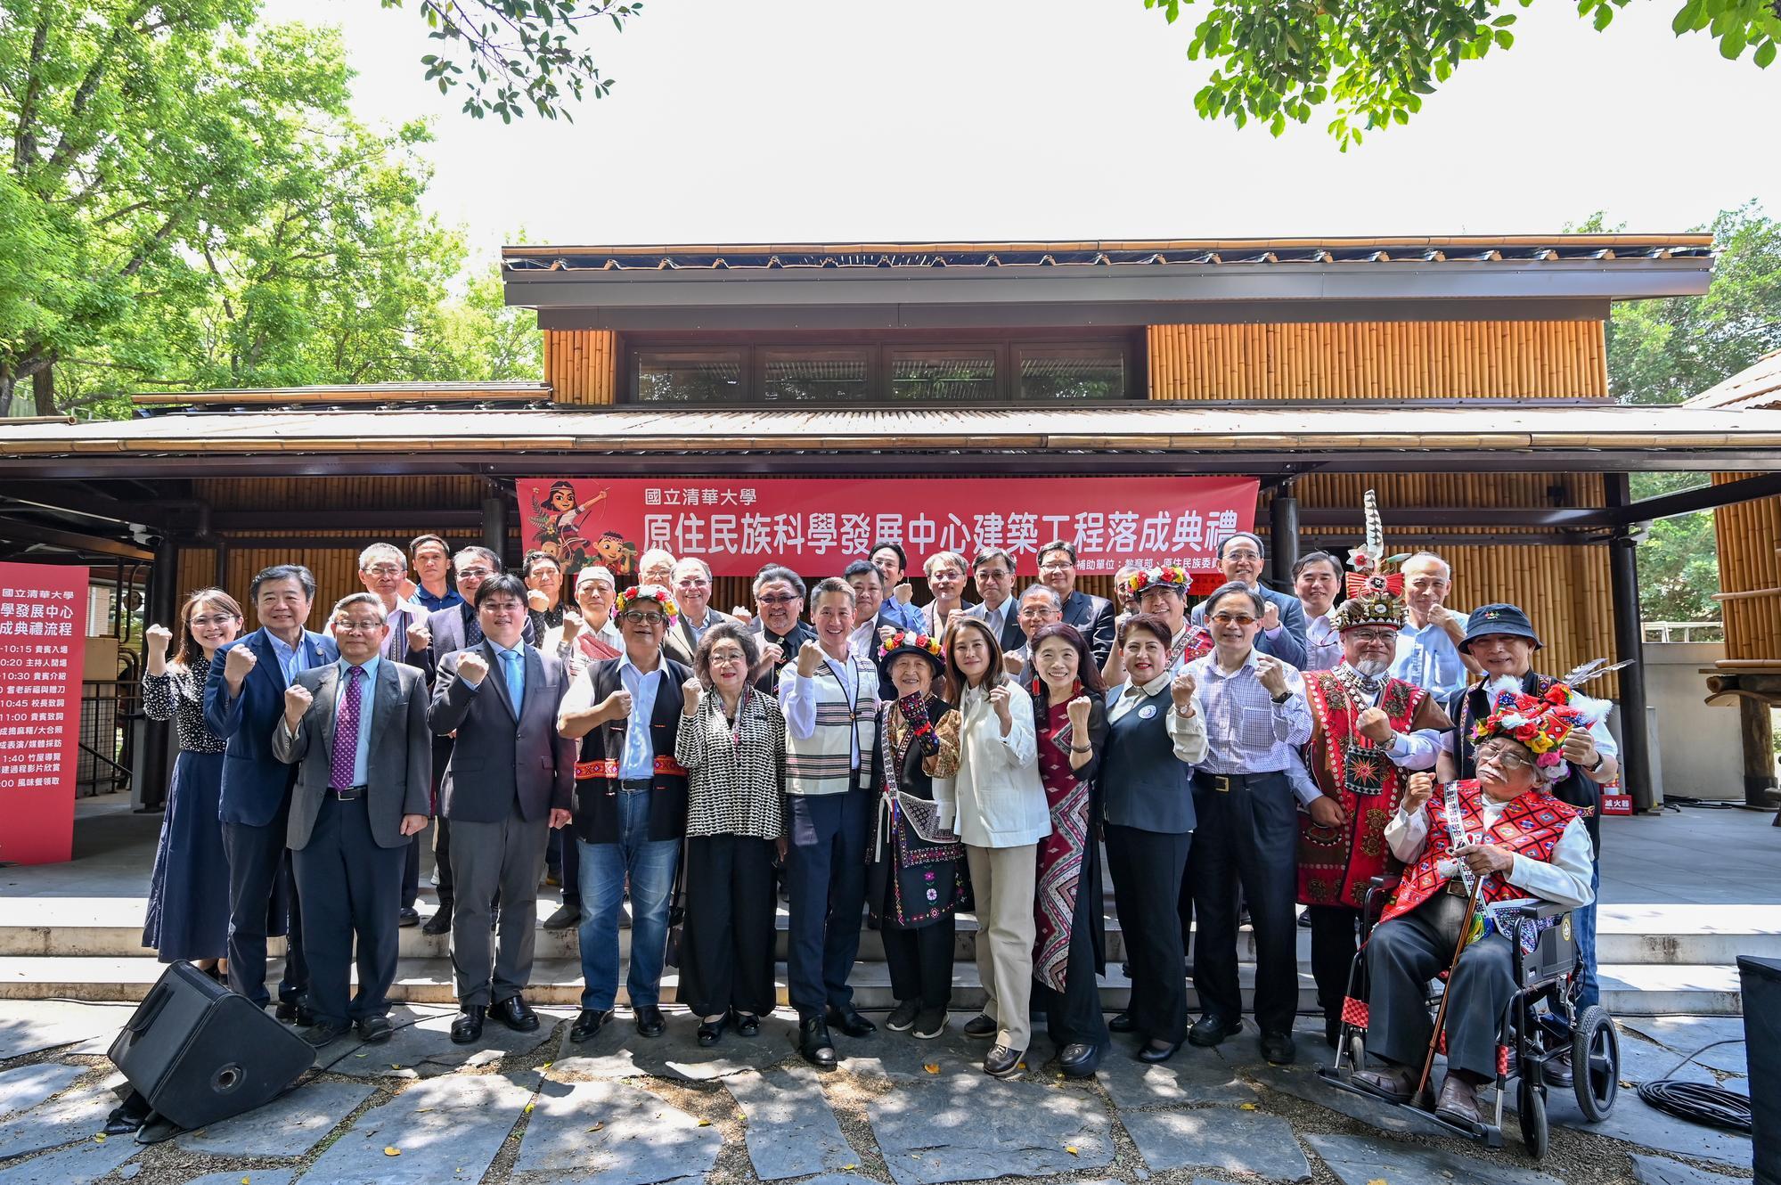
<path fill-rule="evenodd" d="M 666 1030 L 663 959 L 675 864 L 686 836 L 686 768 L 675 759 L 682 688 L 691 668 L 663 656 L 675 604 L 661 584 L 618 597 L 622 658 L 577 675 L 556 729 L 581 741 L 575 763 L 575 846 L 581 848 L 581 1012 L 568 1039 L 582 1042 L 613 1019 L 618 998 L 618 911 L 630 886 L 630 973 L 625 991 L 643 1037 Z"/>

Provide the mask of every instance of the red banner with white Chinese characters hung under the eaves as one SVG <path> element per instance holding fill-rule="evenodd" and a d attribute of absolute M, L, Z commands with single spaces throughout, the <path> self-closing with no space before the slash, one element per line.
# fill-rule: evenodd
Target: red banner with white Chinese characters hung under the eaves
<path fill-rule="evenodd" d="M 841 572 L 876 542 L 901 543 L 910 570 L 937 551 L 969 561 L 1001 547 L 1022 574 L 1038 549 L 1076 543 L 1078 570 L 1179 563 L 1216 577 L 1218 540 L 1248 531 L 1250 478 L 614 478 L 518 483 L 525 547 L 568 570 L 604 563 L 620 586 L 638 556 L 664 547 L 714 576 L 768 561 L 803 576 Z M 1197 581 L 1199 583 L 1199 581 Z"/>

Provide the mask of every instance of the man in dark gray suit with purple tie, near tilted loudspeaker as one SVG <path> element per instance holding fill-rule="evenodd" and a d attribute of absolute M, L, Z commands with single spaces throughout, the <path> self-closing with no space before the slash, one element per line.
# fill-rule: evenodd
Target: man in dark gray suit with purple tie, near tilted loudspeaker
<path fill-rule="evenodd" d="M 427 684 L 381 656 L 390 631 L 369 592 L 333 608 L 340 659 L 297 672 L 272 756 L 297 766 L 290 798 L 290 864 L 308 921 L 310 1010 L 303 1039 L 324 1046 L 354 1025 L 388 1041 L 386 993 L 395 982 L 403 855 L 427 825 L 433 738 Z M 347 1001 L 353 937 L 358 996 Z"/>

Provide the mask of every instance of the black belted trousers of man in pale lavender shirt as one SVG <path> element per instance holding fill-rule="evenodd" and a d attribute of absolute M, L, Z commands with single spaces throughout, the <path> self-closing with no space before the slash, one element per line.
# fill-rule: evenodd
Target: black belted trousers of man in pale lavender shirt
<path fill-rule="evenodd" d="M 1199 830 L 1193 859 L 1193 989 L 1208 1016 L 1243 1016 L 1236 978 L 1236 919 L 1248 902 L 1256 932 L 1256 1025 L 1291 1032 L 1298 1010 L 1298 807 L 1286 773 L 1254 773 L 1231 789 L 1195 773 Z"/>

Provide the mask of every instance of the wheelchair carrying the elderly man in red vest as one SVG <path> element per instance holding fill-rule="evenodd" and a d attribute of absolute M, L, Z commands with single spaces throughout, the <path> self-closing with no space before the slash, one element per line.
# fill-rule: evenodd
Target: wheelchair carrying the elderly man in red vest
<path fill-rule="evenodd" d="M 1355 1085 L 1354 1073 L 1366 1067 L 1366 939 L 1378 925 L 1378 916 L 1396 887 L 1396 877 L 1375 877 L 1370 882 L 1361 911 L 1361 950 L 1348 968 L 1336 1064 L 1318 1069 L 1318 1076 L 1338 1089 L 1387 1103 L 1389 1099 Z M 1537 934 L 1523 939 L 1521 927 L 1533 927 Z M 1409 1103 L 1396 1103 L 1396 1107 L 1416 1110 L 1428 1123 L 1455 1135 L 1480 1140 L 1485 1148 L 1501 1148 L 1503 1101 L 1509 1096 L 1510 1082 L 1514 1082 L 1521 1142 L 1532 1156 L 1539 1158 L 1546 1155 L 1551 1142 L 1546 1123 L 1546 1064 L 1562 1053 L 1571 1055 L 1571 1085 L 1578 1110 L 1589 1123 L 1601 1123 L 1614 1108 L 1614 1098 L 1621 1085 L 1621 1037 L 1606 1009 L 1601 1005 L 1576 1007 L 1576 996 L 1583 984 L 1583 960 L 1571 930 L 1571 911 L 1564 905 L 1541 902 L 1517 919 L 1516 928 L 1516 934 L 1505 934 L 1514 953 L 1516 993 L 1498 1023 L 1496 1103 L 1489 1112 L 1489 1121 L 1475 1126 L 1437 1116 L 1430 1083 L 1425 1083 L 1423 1091 Z M 1446 971 L 1437 977 L 1439 987 L 1428 998 L 1430 1010 L 1439 1007 L 1446 977 Z M 1446 1053 L 1444 1026 L 1437 1041 L 1437 1051 Z"/>

